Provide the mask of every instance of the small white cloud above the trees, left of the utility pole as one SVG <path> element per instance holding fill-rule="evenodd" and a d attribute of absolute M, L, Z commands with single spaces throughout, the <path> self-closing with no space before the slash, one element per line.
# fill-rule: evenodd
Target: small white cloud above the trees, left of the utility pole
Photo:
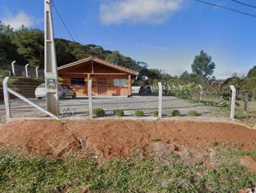
<path fill-rule="evenodd" d="M 22 25 L 26 27 L 40 24 L 41 19 L 28 15 L 27 13 L 20 11 L 17 14 L 13 14 L 10 10 L 4 11 L 4 16 L 0 19 L 5 25 L 10 25 L 13 29 L 19 29 Z"/>

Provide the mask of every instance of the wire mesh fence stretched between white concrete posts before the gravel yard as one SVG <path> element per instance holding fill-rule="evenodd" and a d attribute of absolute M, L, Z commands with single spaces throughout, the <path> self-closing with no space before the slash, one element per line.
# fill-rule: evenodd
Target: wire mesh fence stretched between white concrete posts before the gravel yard
<path fill-rule="evenodd" d="M 19 80 L 19 79 L 18 79 Z M 16 81 L 8 88 L 29 99 L 33 104 L 48 109 L 45 83 Z M 90 88 L 86 79 L 63 80 L 58 85 L 60 118 L 90 118 Z M 99 117 L 158 117 L 159 95 L 161 95 L 161 116 L 191 118 L 229 118 L 231 108 L 230 88 L 200 88 L 198 85 L 163 84 L 143 82 L 131 86 L 125 79 L 106 81 L 92 79 L 92 116 Z M 161 90 L 161 91 L 160 91 Z M 223 94 L 224 93 L 224 94 Z M 246 97 L 245 97 L 246 96 Z M 3 88 L 0 88 L 0 121 L 4 120 Z M 235 118 L 256 123 L 256 101 L 253 92 L 237 91 Z M 246 108 L 245 108 L 246 105 Z M 47 115 L 10 93 L 12 118 L 45 118 Z"/>

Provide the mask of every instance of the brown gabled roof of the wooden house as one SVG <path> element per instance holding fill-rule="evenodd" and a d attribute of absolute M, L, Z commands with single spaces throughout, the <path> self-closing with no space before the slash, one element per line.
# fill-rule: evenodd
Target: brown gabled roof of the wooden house
<path fill-rule="evenodd" d="M 109 66 L 111 68 L 115 68 L 117 70 L 124 71 L 124 72 L 127 72 L 127 73 L 131 73 L 131 74 L 134 74 L 134 75 L 139 74 L 138 72 L 136 72 L 134 70 L 131 70 L 129 68 L 125 68 L 124 66 L 116 65 L 114 63 L 111 63 L 111 62 L 106 61 L 104 59 L 97 58 L 95 56 L 91 56 L 89 58 L 84 58 L 84 59 L 81 59 L 79 61 L 75 61 L 74 63 L 70 63 L 70 64 L 67 64 L 67 65 L 60 66 L 60 67 L 57 68 L 57 70 L 63 70 L 63 69 L 69 68 L 71 66 L 81 65 L 86 61 L 95 61 L 95 62 L 100 63 L 102 65 L 106 65 L 106 66 Z"/>

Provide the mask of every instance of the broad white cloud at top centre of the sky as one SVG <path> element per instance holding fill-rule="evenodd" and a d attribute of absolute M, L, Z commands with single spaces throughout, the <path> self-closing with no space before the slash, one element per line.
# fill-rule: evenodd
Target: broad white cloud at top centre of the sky
<path fill-rule="evenodd" d="M 166 22 L 180 10 L 182 0 L 114 0 L 100 4 L 104 24 Z"/>

